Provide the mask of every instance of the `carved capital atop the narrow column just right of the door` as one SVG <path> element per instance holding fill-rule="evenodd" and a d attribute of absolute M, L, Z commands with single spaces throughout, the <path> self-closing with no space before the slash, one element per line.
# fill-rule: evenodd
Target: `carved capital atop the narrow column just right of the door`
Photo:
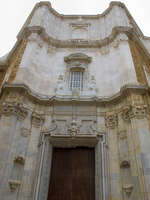
<path fill-rule="evenodd" d="M 107 128 L 114 129 L 118 125 L 117 114 L 107 115 L 105 117 L 105 125 Z"/>

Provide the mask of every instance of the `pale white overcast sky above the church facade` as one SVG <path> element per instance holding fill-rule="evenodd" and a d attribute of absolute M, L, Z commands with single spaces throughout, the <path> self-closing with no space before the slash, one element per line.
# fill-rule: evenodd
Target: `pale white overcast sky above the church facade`
<path fill-rule="evenodd" d="M 3 0 L 0 6 L 0 57 L 7 54 L 38 0 Z M 61 14 L 100 14 L 110 0 L 51 0 Z M 145 36 L 150 36 L 150 1 L 122 0 Z"/>

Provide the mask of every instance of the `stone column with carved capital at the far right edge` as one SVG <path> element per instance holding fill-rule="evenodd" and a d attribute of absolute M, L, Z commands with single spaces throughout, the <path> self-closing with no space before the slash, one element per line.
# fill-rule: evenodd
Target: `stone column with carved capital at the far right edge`
<path fill-rule="evenodd" d="M 145 105 L 133 105 L 131 131 L 138 166 L 142 199 L 150 199 L 150 131 Z"/>

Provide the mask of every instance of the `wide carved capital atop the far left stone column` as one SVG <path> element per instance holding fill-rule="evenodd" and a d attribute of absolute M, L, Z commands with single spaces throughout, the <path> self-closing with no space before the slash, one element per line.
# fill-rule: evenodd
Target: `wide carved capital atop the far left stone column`
<path fill-rule="evenodd" d="M 6 116 L 15 115 L 18 120 L 24 120 L 28 114 L 27 109 L 18 102 L 4 102 L 2 113 Z"/>

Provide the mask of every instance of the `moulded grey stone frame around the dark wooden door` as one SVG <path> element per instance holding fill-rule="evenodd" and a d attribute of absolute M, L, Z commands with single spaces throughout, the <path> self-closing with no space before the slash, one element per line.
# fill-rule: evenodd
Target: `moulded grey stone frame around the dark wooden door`
<path fill-rule="evenodd" d="M 34 200 L 47 200 L 53 148 L 93 147 L 95 150 L 95 200 L 109 197 L 107 137 L 99 135 L 60 136 L 41 133 L 40 154 L 35 181 Z"/>

